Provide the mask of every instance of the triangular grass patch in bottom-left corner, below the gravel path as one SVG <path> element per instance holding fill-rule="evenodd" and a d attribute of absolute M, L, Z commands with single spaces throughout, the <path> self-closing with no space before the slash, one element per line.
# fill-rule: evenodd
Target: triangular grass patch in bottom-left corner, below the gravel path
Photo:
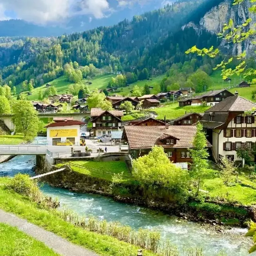
<path fill-rule="evenodd" d="M 14 255 L 58 256 L 59 254 L 17 228 L 0 223 L 0 256 Z"/>

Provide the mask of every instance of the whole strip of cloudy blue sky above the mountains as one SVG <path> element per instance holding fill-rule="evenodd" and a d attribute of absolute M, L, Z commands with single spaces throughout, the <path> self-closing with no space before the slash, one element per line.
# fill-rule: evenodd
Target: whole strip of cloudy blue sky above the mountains
<path fill-rule="evenodd" d="M 18 18 L 38 25 L 61 24 L 79 15 L 88 22 L 112 16 L 126 8 L 152 5 L 159 8 L 172 0 L 0 0 L 0 20 Z"/>

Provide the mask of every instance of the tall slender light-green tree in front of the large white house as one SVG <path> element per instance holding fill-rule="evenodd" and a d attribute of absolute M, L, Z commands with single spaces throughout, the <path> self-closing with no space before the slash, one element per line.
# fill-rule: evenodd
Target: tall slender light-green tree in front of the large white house
<path fill-rule="evenodd" d="M 203 184 L 204 178 L 208 175 L 208 156 L 209 153 L 206 149 L 207 140 L 205 133 L 202 131 L 202 124 L 198 123 L 196 125 L 196 135 L 193 139 L 193 149 L 190 149 L 190 154 L 192 157 L 191 165 L 191 176 L 194 178 L 198 185 L 196 190 L 196 195 L 198 195 L 199 190 Z"/>

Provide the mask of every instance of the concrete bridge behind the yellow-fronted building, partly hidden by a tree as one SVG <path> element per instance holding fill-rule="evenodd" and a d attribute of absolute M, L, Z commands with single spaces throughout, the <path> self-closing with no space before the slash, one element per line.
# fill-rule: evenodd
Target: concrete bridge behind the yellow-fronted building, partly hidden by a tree
<path fill-rule="evenodd" d="M 53 113 L 53 114 L 43 114 L 39 113 L 39 118 L 54 118 L 54 117 L 73 117 L 76 121 L 82 121 L 84 117 L 90 116 L 90 112 L 84 113 Z M 9 115 L 0 115 L 0 120 L 4 122 L 4 124 L 10 129 L 14 130 L 14 123 L 12 121 L 12 114 Z"/>

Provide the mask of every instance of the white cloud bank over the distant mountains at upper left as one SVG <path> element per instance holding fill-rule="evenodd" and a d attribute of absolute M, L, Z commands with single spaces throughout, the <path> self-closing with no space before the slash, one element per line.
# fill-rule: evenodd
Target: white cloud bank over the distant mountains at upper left
<path fill-rule="evenodd" d="M 103 18 L 111 12 L 107 0 L 0 0 L 0 20 L 8 18 L 6 10 L 36 24 L 62 22 L 79 14 Z"/>

